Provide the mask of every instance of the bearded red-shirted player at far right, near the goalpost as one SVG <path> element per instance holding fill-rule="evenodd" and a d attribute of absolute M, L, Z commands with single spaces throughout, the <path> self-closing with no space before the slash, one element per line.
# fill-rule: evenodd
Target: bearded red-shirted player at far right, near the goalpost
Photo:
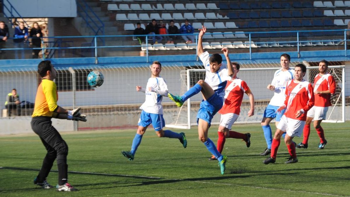
<path fill-rule="evenodd" d="M 314 119 L 314 127 L 317 134 L 320 136 L 318 149 L 323 149 L 327 144 L 327 140 L 324 138 L 321 122 L 326 118 L 328 107 L 332 106 L 330 103 L 330 96 L 335 93 L 335 80 L 332 75 L 327 73 L 328 64 L 329 62 L 325 60 L 318 63 L 318 71 L 320 73 L 318 73 L 314 79 L 315 105 L 307 113 L 306 124 L 303 131 L 304 139 L 303 142 L 296 146 L 297 148 L 308 147 L 312 119 Z"/>

